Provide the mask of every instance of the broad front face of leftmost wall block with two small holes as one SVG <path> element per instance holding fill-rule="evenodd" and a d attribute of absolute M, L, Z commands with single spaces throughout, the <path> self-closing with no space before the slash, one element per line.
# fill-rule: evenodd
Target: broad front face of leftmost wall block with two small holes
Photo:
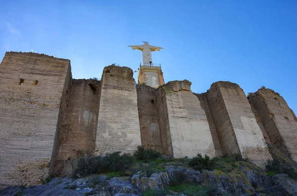
<path fill-rule="evenodd" d="M 0 184 L 39 184 L 49 172 L 70 61 L 6 52 L 0 64 Z"/>

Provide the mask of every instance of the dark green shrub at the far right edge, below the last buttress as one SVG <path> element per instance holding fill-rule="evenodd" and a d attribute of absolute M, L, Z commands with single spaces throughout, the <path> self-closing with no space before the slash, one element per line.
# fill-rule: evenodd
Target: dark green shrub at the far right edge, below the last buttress
<path fill-rule="evenodd" d="M 275 174 L 287 174 L 289 177 L 297 180 L 297 173 L 294 167 L 290 165 L 282 165 L 278 160 L 268 160 L 268 164 L 266 165 L 266 170 L 268 175 L 272 176 Z"/>

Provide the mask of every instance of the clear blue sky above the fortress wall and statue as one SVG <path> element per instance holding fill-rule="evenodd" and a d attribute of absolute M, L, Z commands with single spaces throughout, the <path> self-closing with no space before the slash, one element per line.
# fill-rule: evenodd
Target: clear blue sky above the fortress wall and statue
<path fill-rule="evenodd" d="M 296 0 L 10 0 L 0 6 L 0 58 L 36 51 L 71 60 L 73 78 L 101 77 L 117 63 L 137 70 L 139 50 L 152 53 L 165 82 L 188 79 L 192 91 L 212 82 L 261 85 L 297 112 Z M 135 73 L 135 78 L 137 73 Z"/>

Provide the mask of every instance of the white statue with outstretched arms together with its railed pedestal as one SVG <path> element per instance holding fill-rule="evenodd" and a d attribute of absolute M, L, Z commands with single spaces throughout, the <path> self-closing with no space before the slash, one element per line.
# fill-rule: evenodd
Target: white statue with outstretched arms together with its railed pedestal
<path fill-rule="evenodd" d="M 152 63 L 151 52 L 160 51 L 162 47 L 149 45 L 147 41 L 143 41 L 143 45 L 129 45 L 133 50 L 138 49 L 143 53 L 143 65 L 140 65 L 137 82 L 139 84 L 146 83 L 150 87 L 157 88 L 163 84 L 164 78 L 160 64 Z"/>

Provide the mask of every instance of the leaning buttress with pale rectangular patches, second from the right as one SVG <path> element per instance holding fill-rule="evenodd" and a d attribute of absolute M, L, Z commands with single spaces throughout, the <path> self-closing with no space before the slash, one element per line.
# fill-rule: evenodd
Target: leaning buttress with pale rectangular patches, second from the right
<path fill-rule="evenodd" d="M 218 81 L 207 91 L 207 100 L 223 154 L 239 154 L 264 167 L 272 157 L 243 89 Z"/>

